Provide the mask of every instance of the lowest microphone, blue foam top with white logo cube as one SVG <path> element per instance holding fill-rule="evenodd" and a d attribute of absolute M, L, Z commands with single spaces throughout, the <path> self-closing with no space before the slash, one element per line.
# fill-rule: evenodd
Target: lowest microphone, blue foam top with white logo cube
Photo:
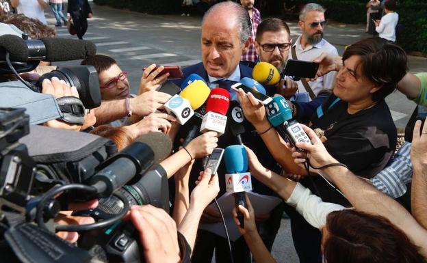
<path fill-rule="evenodd" d="M 224 150 L 226 191 L 233 193 L 237 219 L 244 227 L 244 217 L 240 213 L 239 205 L 246 207 L 246 191 L 252 191 L 252 180 L 248 171 L 248 153 L 244 146 L 234 145 Z"/>

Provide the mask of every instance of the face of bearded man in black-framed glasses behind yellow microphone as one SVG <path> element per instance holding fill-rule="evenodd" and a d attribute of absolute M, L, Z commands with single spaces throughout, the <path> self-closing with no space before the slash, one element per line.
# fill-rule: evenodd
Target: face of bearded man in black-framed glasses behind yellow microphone
<path fill-rule="evenodd" d="M 268 62 L 275 66 L 279 72 L 285 68 L 287 56 L 289 55 L 289 46 L 292 40 L 285 30 L 265 31 L 259 42 L 255 42 L 255 49 L 261 61 Z M 279 45 L 279 46 L 274 46 Z M 269 51 L 274 46 L 272 51 Z M 282 49 L 282 51 L 280 50 Z"/>

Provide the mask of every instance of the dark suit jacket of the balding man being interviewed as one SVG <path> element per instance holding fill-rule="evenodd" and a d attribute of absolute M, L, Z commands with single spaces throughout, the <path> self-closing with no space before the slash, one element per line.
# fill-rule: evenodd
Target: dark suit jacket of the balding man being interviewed
<path fill-rule="evenodd" d="M 203 67 L 203 63 L 198 63 L 192 66 L 189 66 L 187 68 L 183 69 L 183 79 L 188 77 L 190 74 L 196 73 L 203 79 L 207 81 L 207 72 L 205 68 Z M 252 69 L 248 68 L 247 66 L 244 66 L 243 64 L 240 64 L 240 77 L 250 77 L 252 78 Z M 179 83 L 181 84 L 181 83 Z M 229 109 L 231 111 L 231 109 Z M 256 133 L 255 127 L 250 124 L 247 120 L 244 120 L 243 122 L 246 132 L 242 134 L 242 141 L 246 146 L 251 148 L 255 154 L 257 154 L 259 161 L 265 166 L 268 167 L 268 169 L 272 169 L 273 171 L 279 172 L 280 168 L 277 165 L 276 161 L 274 161 L 274 158 L 271 156 L 270 152 L 268 152 L 266 145 L 263 143 L 261 137 Z M 188 130 L 190 130 L 192 126 L 192 121 L 190 120 L 185 125 L 183 125 L 178 134 L 177 138 L 175 139 L 175 147 L 181 145 L 179 142 L 180 138 L 185 138 L 188 134 Z M 226 148 L 227 146 L 231 146 L 233 144 L 237 144 L 237 141 L 235 137 L 231 134 L 231 131 L 229 128 L 226 128 L 224 135 L 221 135 L 219 137 L 218 141 L 218 147 L 219 148 Z M 192 190 L 195 186 L 194 182 L 196 181 L 198 177 L 198 173 L 203 170 L 201 159 L 196 160 L 196 162 L 193 165 L 192 173 L 190 174 L 190 190 Z M 222 195 L 222 193 L 225 192 L 225 178 L 224 174 L 226 174 L 224 161 L 221 162 L 220 167 L 218 168 L 218 176 L 220 180 L 220 193 L 218 196 Z M 253 191 L 256 193 L 261 193 L 265 195 L 274 195 L 273 191 L 269 189 L 264 184 L 261 184 L 261 182 L 257 181 L 255 178 L 252 178 L 253 180 Z M 173 196 L 173 195 L 172 195 Z"/>

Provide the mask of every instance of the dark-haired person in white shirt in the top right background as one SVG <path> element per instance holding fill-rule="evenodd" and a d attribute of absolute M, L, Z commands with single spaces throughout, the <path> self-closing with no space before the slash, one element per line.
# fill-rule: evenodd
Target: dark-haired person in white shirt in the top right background
<path fill-rule="evenodd" d="M 399 22 L 399 15 L 395 11 L 396 1 L 387 0 L 384 3 L 385 16 L 375 21 L 375 30 L 379 37 L 393 42 L 396 41 L 396 25 Z"/>

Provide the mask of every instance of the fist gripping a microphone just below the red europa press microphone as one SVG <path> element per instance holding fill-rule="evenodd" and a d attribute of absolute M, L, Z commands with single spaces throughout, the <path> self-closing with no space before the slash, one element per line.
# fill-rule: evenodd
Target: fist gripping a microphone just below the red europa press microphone
<path fill-rule="evenodd" d="M 194 138 L 185 149 L 192 155 L 194 159 L 202 158 L 211 154 L 213 149 L 218 147 L 218 133 L 209 131 Z"/>

